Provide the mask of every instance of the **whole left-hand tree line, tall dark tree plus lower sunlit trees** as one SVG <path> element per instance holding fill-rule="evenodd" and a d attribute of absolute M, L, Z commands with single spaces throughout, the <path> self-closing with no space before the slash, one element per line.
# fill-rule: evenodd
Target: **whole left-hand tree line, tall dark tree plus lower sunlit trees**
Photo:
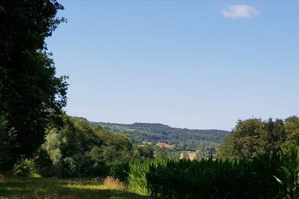
<path fill-rule="evenodd" d="M 45 43 L 67 21 L 56 16 L 63 9 L 57 0 L 0 1 L 0 170 L 21 173 L 28 164 L 43 176 L 70 177 L 83 167 L 153 156 L 63 111 L 68 76 L 56 76 Z"/>

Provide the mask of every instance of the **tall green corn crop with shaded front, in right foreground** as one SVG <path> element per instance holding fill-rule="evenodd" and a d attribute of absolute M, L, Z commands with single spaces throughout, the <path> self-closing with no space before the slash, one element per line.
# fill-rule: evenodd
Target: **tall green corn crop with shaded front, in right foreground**
<path fill-rule="evenodd" d="M 154 199 L 299 199 L 299 146 L 252 160 L 129 161 L 111 175 Z"/>

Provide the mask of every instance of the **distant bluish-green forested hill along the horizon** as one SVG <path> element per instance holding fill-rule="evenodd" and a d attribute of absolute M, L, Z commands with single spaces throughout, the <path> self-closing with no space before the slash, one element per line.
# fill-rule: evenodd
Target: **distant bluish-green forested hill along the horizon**
<path fill-rule="evenodd" d="M 163 141 L 169 144 L 178 144 L 187 140 L 206 140 L 222 143 L 228 136 L 229 131 L 225 130 L 191 130 L 187 128 L 172 128 L 159 123 L 134 123 L 117 124 L 106 122 L 90 122 L 93 126 L 102 126 L 114 133 L 125 134 L 133 143 L 142 141 Z"/>

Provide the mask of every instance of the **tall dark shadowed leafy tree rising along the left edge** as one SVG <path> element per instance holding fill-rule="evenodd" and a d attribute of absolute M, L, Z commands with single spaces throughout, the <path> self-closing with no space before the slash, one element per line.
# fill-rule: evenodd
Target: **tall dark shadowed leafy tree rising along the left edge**
<path fill-rule="evenodd" d="M 67 77 L 55 76 L 45 44 L 65 20 L 56 17 L 61 9 L 56 0 L 0 1 L 0 115 L 12 160 L 32 155 L 66 105 Z"/>

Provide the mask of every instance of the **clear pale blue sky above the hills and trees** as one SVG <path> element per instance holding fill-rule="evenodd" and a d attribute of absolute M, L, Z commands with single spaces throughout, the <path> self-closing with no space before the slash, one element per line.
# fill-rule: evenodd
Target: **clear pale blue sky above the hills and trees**
<path fill-rule="evenodd" d="M 67 114 L 231 130 L 299 114 L 299 1 L 58 0 Z"/>

